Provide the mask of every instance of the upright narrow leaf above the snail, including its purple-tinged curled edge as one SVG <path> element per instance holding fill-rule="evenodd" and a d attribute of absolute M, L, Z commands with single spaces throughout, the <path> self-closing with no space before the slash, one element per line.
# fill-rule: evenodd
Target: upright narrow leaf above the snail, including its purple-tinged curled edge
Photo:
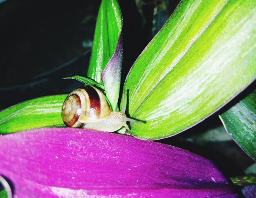
<path fill-rule="evenodd" d="M 106 96 L 117 110 L 122 64 L 122 16 L 117 0 L 102 0 L 96 23 L 87 76 L 104 84 Z"/>

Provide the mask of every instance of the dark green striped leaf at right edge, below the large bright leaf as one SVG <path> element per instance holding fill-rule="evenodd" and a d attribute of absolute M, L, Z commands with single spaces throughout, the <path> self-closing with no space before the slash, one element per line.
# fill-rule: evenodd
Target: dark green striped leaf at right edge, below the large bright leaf
<path fill-rule="evenodd" d="M 226 131 L 256 160 L 256 91 L 220 115 Z"/>

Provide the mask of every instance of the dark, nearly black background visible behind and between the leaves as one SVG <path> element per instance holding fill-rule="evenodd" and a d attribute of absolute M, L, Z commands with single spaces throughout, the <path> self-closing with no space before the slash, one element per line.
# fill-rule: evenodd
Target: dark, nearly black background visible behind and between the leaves
<path fill-rule="evenodd" d="M 0 110 L 40 96 L 69 93 L 81 86 L 76 80 L 62 78 L 86 76 L 100 2 L 0 3 Z M 179 0 L 119 0 L 124 20 L 122 83 L 178 3 Z M 227 136 L 217 114 L 159 142 L 209 158 L 227 176 L 242 175 L 253 163 Z"/>

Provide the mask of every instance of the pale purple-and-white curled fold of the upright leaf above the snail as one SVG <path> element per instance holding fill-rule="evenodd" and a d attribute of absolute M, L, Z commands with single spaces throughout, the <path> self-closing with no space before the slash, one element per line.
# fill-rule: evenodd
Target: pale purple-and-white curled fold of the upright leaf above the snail
<path fill-rule="evenodd" d="M 108 65 L 101 73 L 101 79 L 105 87 L 106 95 L 113 110 L 118 110 L 117 102 L 119 98 L 121 68 L 123 59 L 123 36 L 120 33 L 117 40 L 117 47 Z"/>

